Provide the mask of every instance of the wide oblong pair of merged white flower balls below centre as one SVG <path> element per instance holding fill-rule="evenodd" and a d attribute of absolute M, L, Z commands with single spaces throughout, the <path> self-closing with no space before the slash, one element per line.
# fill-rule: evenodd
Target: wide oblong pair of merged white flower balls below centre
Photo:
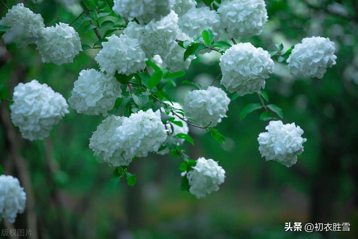
<path fill-rule="evenodd" d="M 166 137 L 160 117 L 151 109 L 140 110 L 128 118 L 111 115 L 103 120 L 93 132 L 89 148 L 114 167 L 127 166 L 134 157 L 158 151 Z"/>

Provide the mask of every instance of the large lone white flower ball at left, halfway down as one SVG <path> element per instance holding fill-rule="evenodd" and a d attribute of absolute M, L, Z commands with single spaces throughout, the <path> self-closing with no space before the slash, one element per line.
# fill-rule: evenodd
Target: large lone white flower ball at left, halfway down
<path fill-rule="evenodd" d="M 53 126 L 69 113 L 63 96 L 37 80 L 15 86 L 13 101 L 11 121 L 29 140 L 48 137 Z"/>

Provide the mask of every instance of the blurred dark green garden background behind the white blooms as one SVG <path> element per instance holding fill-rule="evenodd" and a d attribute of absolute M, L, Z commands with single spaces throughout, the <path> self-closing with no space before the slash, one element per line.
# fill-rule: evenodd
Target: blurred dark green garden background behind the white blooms
<path fill-rule="evenodd" d="M 4 2 L 11 7 L 19 1 Z M 70 23 L 82 12 L 78 4 L 70 5 L 73 1 L 23 2 L 42 14 L 46 26 Z M 226 170 L 218 192 L 198 200 L 180 191 L 181 160 L 155 154 L 131 163 L 137 185 L 122 181 L 111 190 L 113 168 L 88 148 L 102 116 L 77 114 L 70 108 L 48 139 L 30 142 L 9 124 L 8 104 L 1 103 L 0 163 L 5 174 L 19 177 L 30 206 L 14 225 L 3 222 L 0 227 L 30 228 L 39 238 L 358 238 L 358 1 L 266 4 L 269 21 L 263 33 L 242 42 L 266 50 L 283 43 L 286 50 L 314 35 L 336 44 L 337 65 L 323 79 L 295 79 L 285 64 L 275 62 L 266 81 L 269 102 L 284 110 L 283 122 L 295 122 L 305 132 L 305 151 L 296 165 L 286 168 L 261 158 L 257 137 L 268 122 L 258 119 L 258 111 L 242 121 L 238 117 L 246 104 L 258 102 L 251 94 L 232 101 L 228 118 L 216 127 L 226 144 L 191 128 L 195 146 L 183 146 L 191 158 L 213 158 Z M 0 5 L 1 17 L 6 11 Z M 82 44 L 92 45 L 97 38 L 92 31 L 83 33 L 85 25 L 76 30 Z M 43 64 L 35 48 L 0 47 L 0 83 L 8 85 L 10 96 L 19 82 L 37 79 L 68 99 L 78 73 L 98 69 L 98 49 L 57 66 Z M 182 80 L 208 86 L 220 73 L 219 57 L 213 52 L 195 59 L 186 75 L 175 79 L 177 87 L 168 89 L 170 97 L 183 102 L 193 90 Z M 219 87 L 218 82 L 215 85 Z M 285 232 L 287 222 L 350 223 L 350 231 Z"/>

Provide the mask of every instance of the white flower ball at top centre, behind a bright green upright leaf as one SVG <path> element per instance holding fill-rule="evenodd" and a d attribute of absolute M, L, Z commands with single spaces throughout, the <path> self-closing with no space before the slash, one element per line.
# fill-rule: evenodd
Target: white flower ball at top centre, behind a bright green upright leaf
<path fill-rule="evenodd" d="M 219 14 L 214 10 L 210 10 L 208 6 L 190 9 L 178 22 L 180 30 L 187 33 L 190 38 L 194 39 L 200 36 L 203 30 L 210 29 L 214 33 L 215 41 L 220 36 L 220 24 L 221 18 Z M 200 39 L 199 42 L 204 43 L 203 39 Z"/>

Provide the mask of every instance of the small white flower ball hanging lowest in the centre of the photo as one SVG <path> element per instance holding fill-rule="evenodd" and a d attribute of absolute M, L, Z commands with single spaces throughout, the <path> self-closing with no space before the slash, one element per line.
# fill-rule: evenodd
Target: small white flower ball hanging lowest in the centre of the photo
<path fill-rule="evenodd" d="M 184 172 L 189 180 L 189 192 L 198 199 L 219 190 L 219 185 L 225 181 L 225 170 L 213 159 L 198 158 L 194 170 Z"/>

